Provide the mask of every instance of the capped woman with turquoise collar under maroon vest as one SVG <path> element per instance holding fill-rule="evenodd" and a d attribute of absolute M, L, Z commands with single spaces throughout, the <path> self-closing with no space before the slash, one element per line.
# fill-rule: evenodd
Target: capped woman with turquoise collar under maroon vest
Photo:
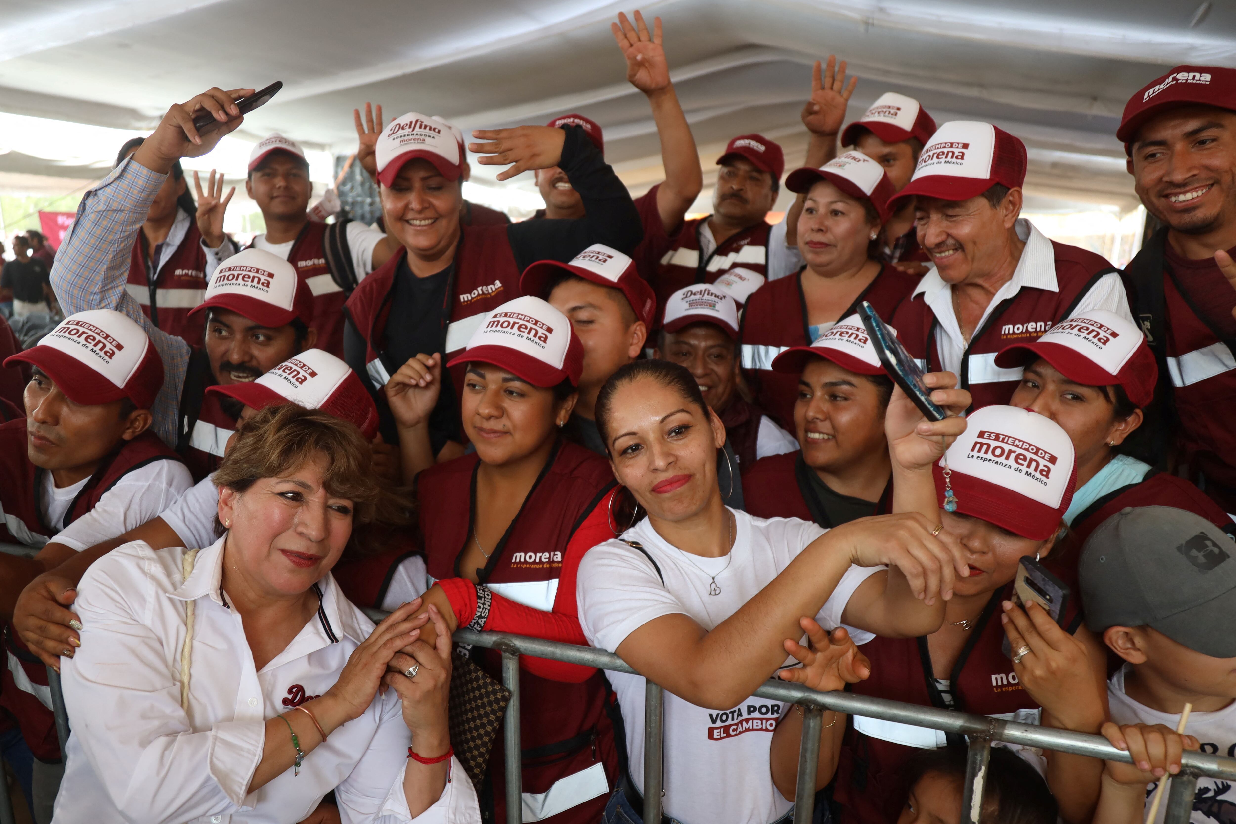
<path fill-rule="evenodd" d="M 1158 379 L 1154 355 L 1135 324 L 1091 309 L 1033 343 L 1010 346 L 996 356 L 996 366 L 1025 368 L 1011 405 L 1047 415 L 1073 439 L 1078 488 L 1064 513 L 1070 550 L 1080 549 L 1095 526 L 1125 507 L 1174 507 L 1236 530 L 1227 513 L 1195 486 L 1121 448 L 1140 432 L 1142 409 L 1153 400 Z"/>

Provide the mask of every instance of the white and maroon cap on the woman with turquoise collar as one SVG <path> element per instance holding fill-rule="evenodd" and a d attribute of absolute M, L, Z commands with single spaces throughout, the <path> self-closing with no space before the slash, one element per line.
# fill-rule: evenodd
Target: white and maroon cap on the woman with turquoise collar
<path fill-rule="evenodd" d="M 1114 311 L 1091 309 L 1052 326 L 1037 341 L 1006 346 L 996 355 L 996 366 L 1023 367 L 1039 357 L 1069 380 L 1088 387 L 1120 384 L 1138 406 L 1154 398 L 1154 353 L 1142 330 Z"/>

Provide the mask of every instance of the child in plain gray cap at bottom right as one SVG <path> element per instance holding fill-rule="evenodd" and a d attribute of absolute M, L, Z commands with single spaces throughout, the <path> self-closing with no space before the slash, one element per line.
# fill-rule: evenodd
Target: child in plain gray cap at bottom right
<path fill-rule="evenodd" d="M 1175 729 L 1193 704 L 1187 730 L 1203 751 L 1236 752 L 1234 551 L 1214 524 L 1168 507 L 1125 509 L 1090 535 L 1079 570 L 1086 625 L 1125 661 L 1107 683 L 1111 720 Z M 1190 820 L 1231 820 L 1229 810 L 1232 784 L 1199 778 Z"/>

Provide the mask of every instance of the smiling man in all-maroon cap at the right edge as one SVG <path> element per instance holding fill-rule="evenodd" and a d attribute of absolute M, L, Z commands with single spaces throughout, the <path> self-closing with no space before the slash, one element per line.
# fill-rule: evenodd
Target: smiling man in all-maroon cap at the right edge
<path fill-rule="evenodd" d="M 1127 269 L 1159 363 L 1151 431 L 1236 513 L 1236 70 L 1175 67 L 1128 99 L 1116 137 L 1164 224 Z"/>

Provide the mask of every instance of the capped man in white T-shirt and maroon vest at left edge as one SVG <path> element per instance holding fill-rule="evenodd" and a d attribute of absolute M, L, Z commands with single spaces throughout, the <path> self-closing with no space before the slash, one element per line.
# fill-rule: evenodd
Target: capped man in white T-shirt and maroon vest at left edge
<path fill-rule="evenodd" d="M 110 309 L 70 315 L 5 361 L 15 364 L 32 367 L 33 378 L 25 416 L 0 425 L 0 541 L 38 552 L 0 555 L 4 619 L 36 576 L 158 515 L 190 486 L 188 469 L 150 431 L 163 363 L 132 319 Z M 41 805 L 61 757 L 51 707 L 38 697 L 47 671 L 5 630 L 0 707 L 33 756 L 33 791 L 23 789 Z"/>

